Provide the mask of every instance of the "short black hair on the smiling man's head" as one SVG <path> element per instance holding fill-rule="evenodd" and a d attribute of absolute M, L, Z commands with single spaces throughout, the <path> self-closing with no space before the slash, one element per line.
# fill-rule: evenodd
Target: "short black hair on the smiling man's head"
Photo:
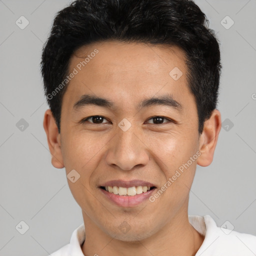
<path fill-rule="evenodd" d="M 186 56 L 187 81 L 194 95 L 198 132 L 216 108 L 220 52 L 205 14 L 192 0 L 75 0 L 60 10 L 43 45 L 45 96 L 60 132 L 63 84 L 74 51 L 105 40 L 176 45 Z M 52 93 L 52 92 L 56 93 Z M 54 96 L 53 96 L 54 95 Z"/>

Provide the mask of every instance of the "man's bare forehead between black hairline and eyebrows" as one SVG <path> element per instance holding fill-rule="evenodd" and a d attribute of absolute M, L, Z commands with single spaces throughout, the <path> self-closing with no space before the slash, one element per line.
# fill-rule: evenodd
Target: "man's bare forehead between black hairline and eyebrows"
<path fill-rule="evenodd" d="M 186 68 L 178 46 L 117 41 L 84 45 L 70 58 L 68 72 L 77 72 L 63 101 L 71 104 L 87 93 L 107 95 L 122 105 L 166 92 L 177 98 L 189 94 Z"/>

